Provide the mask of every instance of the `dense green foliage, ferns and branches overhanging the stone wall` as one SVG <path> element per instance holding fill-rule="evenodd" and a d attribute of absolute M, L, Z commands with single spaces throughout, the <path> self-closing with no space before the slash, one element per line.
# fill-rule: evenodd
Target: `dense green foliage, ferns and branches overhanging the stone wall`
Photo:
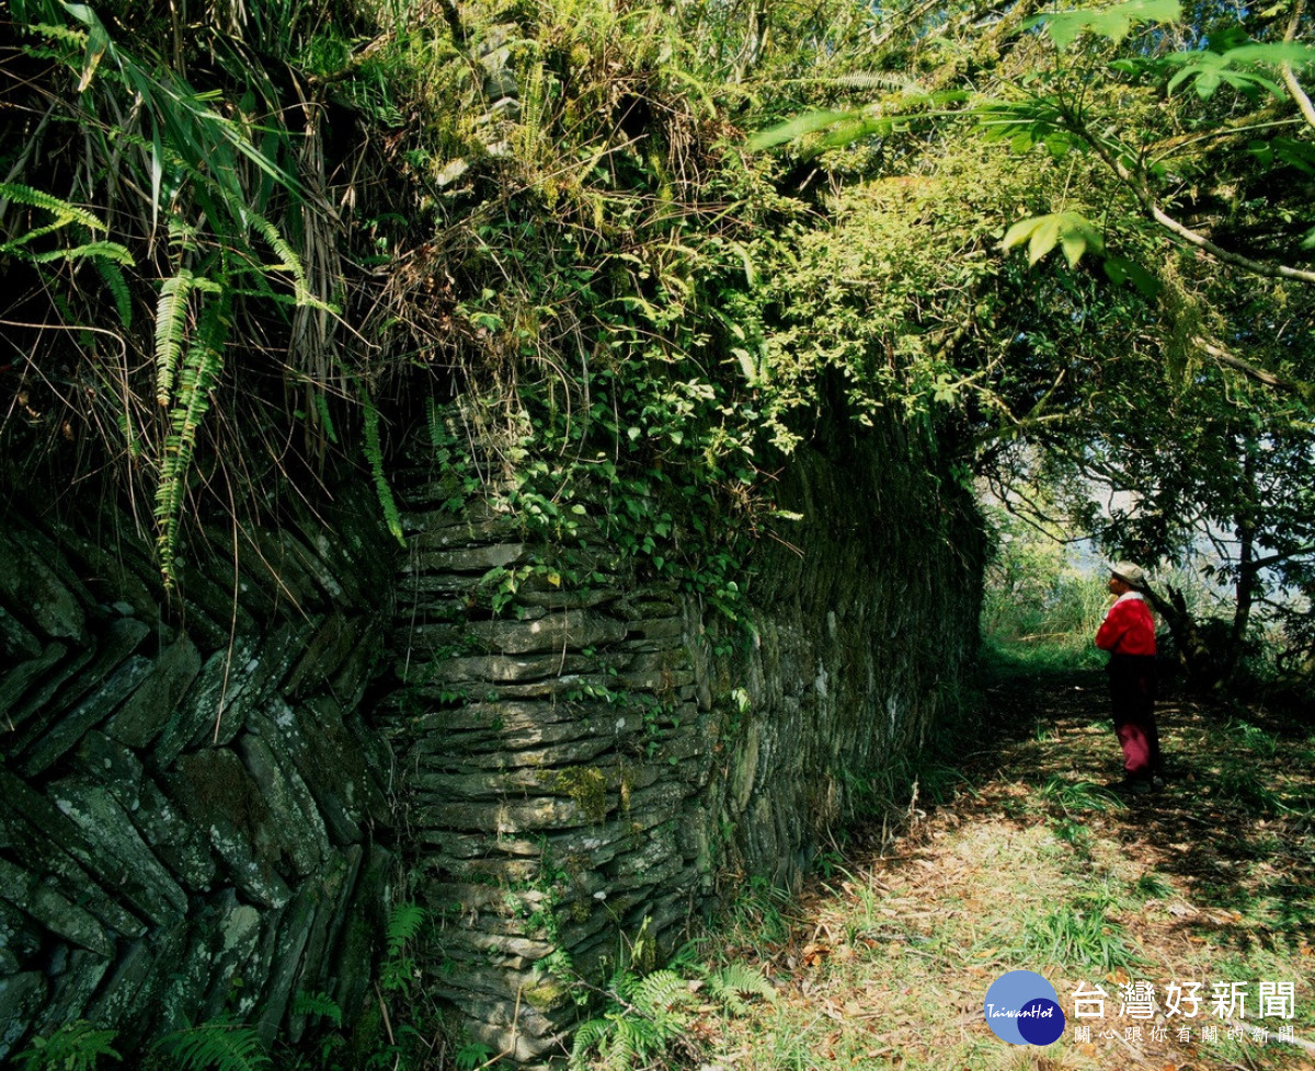
<path fill-rule="evenodd" d="M 726 597 L 717 516 L 844 399 L 1111 551 L 1232 531 L 1240 640 L 1312 585 L 1308 16 L 1039 12 L 16 3 L 5 482 L 112 476 L 172 583 L 342 463 L 397 534 L 427 427 L 454 503 L 602 482 Z"/>

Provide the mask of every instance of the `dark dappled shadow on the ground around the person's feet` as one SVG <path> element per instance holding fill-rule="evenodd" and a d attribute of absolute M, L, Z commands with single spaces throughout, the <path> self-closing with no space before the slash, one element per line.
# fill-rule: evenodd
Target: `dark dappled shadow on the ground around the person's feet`
<path fill-rule="evenodd" d="M 1239 941 L 1315 932 L 1315 735 L 1244 707 L 1168 689 L 1157 704 L 1166 781 L 1145 796 L 1109 788 L 1122 756 L 1102 670 L 993 682 L 959 756 L 969 785 L 1016 782 L 1063 808 L 1109 795 L 1130 857 L 1182 882 L 1194 904 L 1251 921 Z"/>

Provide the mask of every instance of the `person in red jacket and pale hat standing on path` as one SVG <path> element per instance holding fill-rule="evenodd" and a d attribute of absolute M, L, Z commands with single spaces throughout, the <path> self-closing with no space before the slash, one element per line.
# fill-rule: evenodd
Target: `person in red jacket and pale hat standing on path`
<path fill-rule="evenodd" d="M 1155 619 L 1141 595 L 1145 573 L 1131 561 L 1120 561 L 1110 568 L 1109 587 L 1115 601 L 1097 629 L 1095 645 L 1110 652 L 1110 704 L 1123 749 L 1120 787 L 1149 792 L 1162 761 L 1155 721 Z"/>

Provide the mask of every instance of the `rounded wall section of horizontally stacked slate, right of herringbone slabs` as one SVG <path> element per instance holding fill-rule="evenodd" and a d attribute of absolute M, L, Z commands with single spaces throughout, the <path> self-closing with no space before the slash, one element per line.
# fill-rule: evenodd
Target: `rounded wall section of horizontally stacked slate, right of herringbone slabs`
<path fill-rule="evenodd" d="M 974 647 L 981 540 L 914 455 L 888 428 L 792 460 L 802 520 L 752 552 L 748 631 L 619 556 L 605 488 L 563 543 L 406 481 L 379 720 L 438 920 L 425 986 L 494 1051 L 560 1054 L 572 979 L 601 983 L 640 934 L 671 951 L 751 875 L 797 882 L 923 741 Z"/>

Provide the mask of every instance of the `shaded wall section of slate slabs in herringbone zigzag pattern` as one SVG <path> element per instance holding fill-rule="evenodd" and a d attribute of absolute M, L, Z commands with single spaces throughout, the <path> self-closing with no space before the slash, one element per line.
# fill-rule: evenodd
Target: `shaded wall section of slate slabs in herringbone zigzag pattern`
<path fill-rule="evenodd" d="M 243 531 L 237 574 L 192 552 L 168 612 L 122 515 L 4 514 L 0 1063 L 75 1020 L 130 1053 L 221 1012 L 296 1039 L 299 992 L 366 1007 L 392 816 L 362 704 L 397 551 L 368 489 L 326 509 Z"/>

